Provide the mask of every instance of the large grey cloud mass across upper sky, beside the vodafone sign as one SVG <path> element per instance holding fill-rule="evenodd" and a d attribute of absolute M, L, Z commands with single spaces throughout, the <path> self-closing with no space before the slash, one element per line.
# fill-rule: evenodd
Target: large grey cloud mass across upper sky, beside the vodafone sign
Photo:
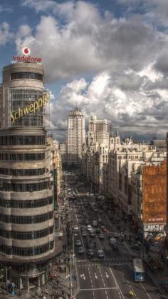
<path fill-rule="evenodd" d="M 141 16 L 114 19 L 85 1 L 26 0 L 23 4 L 45 13 L 51 8 L 57 11 L 42 16 L 33 34 L 16 41 L 18 51 L 21 44 L 42 56 L 48 82 L 99 71 L 141 71 L 157 60 L 161 45 L 167 46 L 165 34 L 154 31 Z"/>

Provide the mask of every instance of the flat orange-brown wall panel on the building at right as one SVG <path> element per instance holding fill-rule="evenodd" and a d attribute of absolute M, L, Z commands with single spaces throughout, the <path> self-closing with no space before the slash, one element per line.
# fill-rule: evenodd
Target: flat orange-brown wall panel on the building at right
<path fill-rule="evenodd" d="M 160 166 L 144 166 L 142 170 L 143 223 L 167 222 L 167 168 L 166 161 Z"/>

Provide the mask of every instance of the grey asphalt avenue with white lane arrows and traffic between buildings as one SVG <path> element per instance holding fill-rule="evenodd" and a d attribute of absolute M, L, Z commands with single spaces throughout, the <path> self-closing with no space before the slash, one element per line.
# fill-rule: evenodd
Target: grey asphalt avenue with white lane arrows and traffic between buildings
<path fill-rule="evenodd" d="M 139 299 L 167 298 L 157 289 L 147 273 L 145 273 L 144 283 L 136 283 L 133 280 L 132 259 L 136 253 L 127 250 L 125 242 L 119 239 L 117 239 L 118 250 L 112 248 L 108 234 L 109 232 L 116 233 L 115 225 L 105 213 L 100 211 L 94 196 L 87 194 L 88 188 L 81 184 L 68 188 L 71 188 L 70 192 L 75 193 L 75 197 L 78 198 L 75 201 L 70 201 L 70 225 L 72 228 L 75 225 L 78 227 L 73 230 L 73 247 L 77 258 L 80 282 L 80 292 L 77 298 L 129 298 L 130 290 L 133 290 L 135 298 Z M 93 202 L 94 209 L 90 208 L 90 201 Z M 93 227 L 93 221 L 98 221 L 98 218 L 102 219 L 102 223 L 98 223 L 98 227 L 104 225 L 108 232 L 103 233 L 104 239 L 99 238 L 97 233 L 90 237 L 90 232 L 87 230 L 86 219 Z M 84 235 L 83 231 L 85 231 Z M 77 240 L 80 240 L 83 253 L 78 253 L 79 246 L 75 245 Z M 92 258 L 88 256 L 88 248 L 93 249 L 94 256 Z M 103 250 L 104 258 L 98 257 L 98 250 Z"/>

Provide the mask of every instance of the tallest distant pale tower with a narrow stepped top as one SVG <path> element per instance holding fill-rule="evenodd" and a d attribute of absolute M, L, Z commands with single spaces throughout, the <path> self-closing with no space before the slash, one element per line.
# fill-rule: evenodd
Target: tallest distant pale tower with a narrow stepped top
<path fill-rule="evenodd" d="M 82 146 L 85 143 L 85 119 L 80 109 L 68 114 L 68 164 L 79 166 L 82 163 Z"/>

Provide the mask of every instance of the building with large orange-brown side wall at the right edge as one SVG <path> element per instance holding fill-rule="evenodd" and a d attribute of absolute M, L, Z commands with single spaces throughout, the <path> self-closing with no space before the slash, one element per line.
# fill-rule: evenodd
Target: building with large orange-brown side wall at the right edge
<path fill-rule="evenodd" d="M 162 154 L 160 159 L 157 157 L 157 163 L 148 161 L 131 173 L 132 217 L 145 238 L 162 237 L 165 234 L 166 189 L 166 160 Z"/>

